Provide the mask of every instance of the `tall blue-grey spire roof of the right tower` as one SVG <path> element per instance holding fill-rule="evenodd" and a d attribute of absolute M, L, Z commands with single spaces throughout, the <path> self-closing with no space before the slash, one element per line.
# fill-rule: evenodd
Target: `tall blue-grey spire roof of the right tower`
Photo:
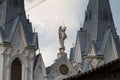
<path fill-rule="evenodd" d="M 88 35 L 87 44 L 89 45 L 94 40 L 96 45 L 100 47 L 104 33 L 109 28 L 112 29 L 113 36 L 117 41 L 118 36 L 109 0 L 89 0 L 83 25 L 83 29 L 87 31 Z"/>

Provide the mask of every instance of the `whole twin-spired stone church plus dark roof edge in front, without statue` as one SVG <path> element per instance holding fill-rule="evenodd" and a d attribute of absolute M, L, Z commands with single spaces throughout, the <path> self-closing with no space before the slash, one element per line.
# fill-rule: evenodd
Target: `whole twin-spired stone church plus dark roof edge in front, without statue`
<path fill-rule="evenodd" d="M 118 80 L 120 40 L 109 0 L 89 0 L 69 59 L 60 49 L 46 68 L 41 53 L 36 55 L 38 49 L 38 34 L 26 18 L 24 0 L 0 0 L 0 80 L 93 80 L 92 74 L 106 77 L 103 72 Z"/>

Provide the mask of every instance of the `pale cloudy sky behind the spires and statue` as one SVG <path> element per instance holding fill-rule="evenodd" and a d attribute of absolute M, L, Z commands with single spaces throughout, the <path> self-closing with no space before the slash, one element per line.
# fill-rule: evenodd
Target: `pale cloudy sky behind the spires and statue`
<path fill-rule="evenodd" d="M 25 9 L 33 29 L 38 32 L 40 52 L 47 67 L 57 59 L 59 26 L 67 27 L 65 52 L 69 57 L 70 48 L 76 41 L 77 31 L 84 22 L 88 0 L 41 0 L 39 5 L 32 8 L 39 2 L 40 0 L 25 0 Z M 110 0 L 110 4 L 115 26 L 120 35 L 120 0 Z"/>

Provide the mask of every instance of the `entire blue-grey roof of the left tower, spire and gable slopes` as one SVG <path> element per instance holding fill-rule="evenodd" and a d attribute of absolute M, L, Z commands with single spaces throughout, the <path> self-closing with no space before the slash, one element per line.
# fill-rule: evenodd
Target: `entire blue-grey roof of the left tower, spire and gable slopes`
<path fill-rule="evenodd" d="M 23 27 L 27 46 L 38 47 L 38 36 L 26 19 L 24 0 L 0 0 L 0 44 L 11 43 L 19 23 Z"/>

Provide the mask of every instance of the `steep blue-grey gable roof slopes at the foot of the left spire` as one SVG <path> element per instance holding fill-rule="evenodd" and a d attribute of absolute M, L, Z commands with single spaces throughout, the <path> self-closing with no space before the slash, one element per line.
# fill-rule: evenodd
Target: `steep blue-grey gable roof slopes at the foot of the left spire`
<path fill-rule="evenodd" d="M 9 30 L 9 33 L 7 30 Z M 22 21 L 19 16 L 11 22 L 10 29 L 3 30 L 2 35 L 5 35 L 4 32 L 7 33 L 3 36 L 4 39 L 0 35 L 0 40 L 3 39 L 4 43 L 11 45 L 14 43 L 13 38 L 15 38 L 18 30 L 20 30 L 25 47 L 38 49 L 38 34 L 32 31 L 32 24 L 28 20 Z"/>

